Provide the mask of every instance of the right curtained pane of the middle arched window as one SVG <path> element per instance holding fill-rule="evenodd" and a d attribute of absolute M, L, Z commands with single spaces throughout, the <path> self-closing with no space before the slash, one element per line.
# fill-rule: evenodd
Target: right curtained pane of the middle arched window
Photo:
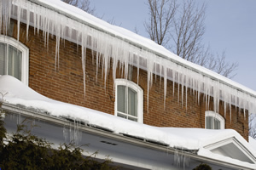
<path fill-rule="evenodd" d="M 128 88 L 128 114 L 137 116 L 137 92 Z"/>

